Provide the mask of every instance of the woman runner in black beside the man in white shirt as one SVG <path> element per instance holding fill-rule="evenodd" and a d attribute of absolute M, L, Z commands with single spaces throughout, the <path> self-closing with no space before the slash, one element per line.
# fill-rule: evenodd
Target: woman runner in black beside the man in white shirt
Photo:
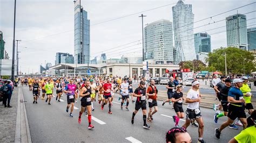
<path fill-rule="evenodd" d="M 175 127 L 179 127 L 178 125 L 179 119 L 184 118 L 184 110 L 182 108 L 182 102 L 185 100 L 185 98 L 183 97 L 183 92 L 181 92 L 182 90 L 183 90 L 183 86 L 178 85 L 176 87 L 176 91 L 173 93 L 173 96 L 172 96 L 173 108 L 177 114 L 177 116 L 172 116 L 173 121 L 175 123 Z"/>

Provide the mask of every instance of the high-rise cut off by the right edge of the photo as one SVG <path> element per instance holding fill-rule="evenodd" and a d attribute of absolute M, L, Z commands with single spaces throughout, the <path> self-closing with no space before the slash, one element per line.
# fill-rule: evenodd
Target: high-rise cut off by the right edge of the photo
<path fill-rule="evenodd" d="M 256 52 L 256 27 L 247 29 L 248 51 Z"/>

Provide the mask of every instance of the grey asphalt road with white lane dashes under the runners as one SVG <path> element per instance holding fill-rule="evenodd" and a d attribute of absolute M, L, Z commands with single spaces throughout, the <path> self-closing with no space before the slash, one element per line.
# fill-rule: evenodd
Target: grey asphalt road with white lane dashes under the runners
<path fill-rule="evenodd" d="M 38 104 L 33 104 L 32 92 L 29 91 L 28 87 L 22 87 L 22 91 L 24 99 L 27 101 L 25 106 L 33 142 L 130 142 L 126 139 L 129 137 L 141 142 L 165 142 L 166 132 L 174 126 L 171 118 L 175 114 L 174 110 L 171 110 L 169 104 L 162 106 L 160 102 L 158 102 L 159 111 L 153 116 L 153 122 L 147 123 L 151 126 L 150 130 L 142 127 L 143 116 L 141 110 L 135 116 L 134 124 L 132 125 L 131 117 L 134 103 L 130 103 L 130 111 L 122 111 L 120 110 L 120 102 L 117 99 L 118 95 L 115 95 L 112 115 L 107 113 L 108 106 L 105 106 L 102 111 L 100 110 L 100 105 L 94 102 L 95 111 L 92 112 L 92 116 L 97 119 L 92 119 L 92 124 L 95 129 L 88 130 L 88 121 L 84 114 L 82 116 L 82 124 L 78 124 L 80 101 L 75 103 L 77 109 L 73 112 L 74 117 L 71 118 L 69 113 L 65 111 L 65 95 L 62 97 L 63 102 L 60 103 L 53 98 L 51 105 L 48 105 L 40 98 L 38 99 Z M 184 105 L 185 109 L 186 106 Z M 204 140 L 206 142 L 228 142 L 242 130 L 242 127 L 239 127 L 239 130 L 225 128 L 221 134 L 221 139 L 218 140 L 215 138 L 214 128 L 219 127 L 227 118 L 220 118 L 218 124 L 215 124 L 213 110 L 201 108 L 201 112 L 205 124 Z M 183 124 L 184 121 L 180 120 L 179 125 Z M 193 142 L 197 142 L 197 128 L 190 126 L 187 131 L 190 133 Z"/>

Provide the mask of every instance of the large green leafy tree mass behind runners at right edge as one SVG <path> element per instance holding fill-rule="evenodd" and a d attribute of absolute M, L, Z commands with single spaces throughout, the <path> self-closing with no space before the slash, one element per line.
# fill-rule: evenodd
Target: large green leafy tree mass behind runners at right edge
<path fill-rule="evenodd" d="M 235 47 L 214 49 L 206 59 L 208 67 L 225 73 L 225 53 L 228 73 L 249 74 L 255 70 L 253 53 Z"/>

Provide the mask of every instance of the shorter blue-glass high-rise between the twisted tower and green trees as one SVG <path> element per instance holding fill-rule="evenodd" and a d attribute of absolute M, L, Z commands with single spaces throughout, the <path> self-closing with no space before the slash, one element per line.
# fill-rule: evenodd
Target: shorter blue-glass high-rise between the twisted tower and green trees
<path fill-rule="evenodd" d="M 211 52 L 211 36 L 207 33 L 194 34 L 194 48 L 198 52 Z"/>

